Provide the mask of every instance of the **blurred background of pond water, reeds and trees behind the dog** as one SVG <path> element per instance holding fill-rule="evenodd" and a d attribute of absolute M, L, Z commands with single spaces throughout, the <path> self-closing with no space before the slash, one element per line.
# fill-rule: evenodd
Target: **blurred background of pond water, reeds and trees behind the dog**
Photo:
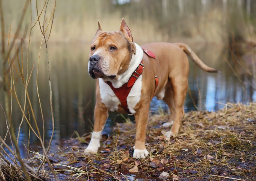
<path fill-rule="evenodd" d="M 35 0 L 31 0 L 32 25 L 37 20 Z M 38 1 L 39 10 L 45 5 Z M 2 1 L 5 38 L 11 25 L 14 36 L 25 0 Z M 52 7 L 54 1 L 49 1 Z M 51 14 L 52 9 L 47 9 Z M 209 74 L 195 68 L 190 62 L 189 87 L 186 111 L 201 107 L 214 111 L 226 102 L 249 102 L 256 100 L 256 1 L 253 0 L 61 0 L 57 1 L 54 25 L 48 42 L 52 74 L 53 106 L 56 122 L 55 140 L 67 138 L 74 131 L 84 134 L 91 131 L 94 109 L 94 84 L 88 75 L 90 43 L 100 20 L 104 31 L 117 30 L 125 18 L 139 45 L 164 41 L 187 43 L 209 66 L 221 71 Z M 20 32 L 30 24 L 28 8 Z M 21 38 L 21 37 L 20 37 Z M 39 26 L 31 32 L 29 67 L 38 60 L 42 34 Z M 24 41 L 28 42 L 28 35 Z M 42 47 L 44 52 L 44 47 Z M 168 50 L 166 50 L 168 51 Z M 46 57 L 41 55 L 39 69 L 39 94 L 47 130 L 52 129 L 49 106 L 49 85 Z M 1 73 L 2 69 L 0 69 Z M 197 71 L 197 76 L 195 76 Z M 198 94 L 197 82 L 201 93 Z M 16 87 L 23 86 L 16 77 Z M 28 90 L 33 95 L 33 106 L 38 119 L 41 113 L 36 94 L 36 71 L 32 72 Z M 24 100 L 24 90 L 18 92 Z M 11 96 L 11 95 L 10 95 Z M 4 101 L 3 89 L 0 102 Z M 159 107 L 167 110 L 162 101 L 153 99 L 151 111 Z M 20 124 L 22 113 L 13 103 L 12 120 Z M 0 113 L 0 134 L 4 134 L 5 120 Z M 110 115 L 105 132 L 110 133 L 116 115 Z M 40 127 L 40 129 L 42 129 Z M 46 135 L 50 137 L 51 131 Z M 21 130 L 20 144 L 28 139 L 28 125 Z M 36 139 L 35 139 L 36 140 Z M 33 142 L 33 137 L 31 138 Z"/>

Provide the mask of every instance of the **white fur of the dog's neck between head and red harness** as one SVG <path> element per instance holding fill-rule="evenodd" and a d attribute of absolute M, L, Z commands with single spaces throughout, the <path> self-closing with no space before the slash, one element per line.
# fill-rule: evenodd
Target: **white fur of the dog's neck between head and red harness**
<path fill-rule="evenodd" d="M 120 74 L 117 79 L 104 80 L 104 81 L 110 81 L 114 88 L 119 88 L 123 84 L 125 84 L 129 81 L 130 77 L 132 76 L 132 73 L 139 66 L 139 64 L 143 58 L 142 48 L 138 44 L 136 44 L 136 43 L 134 43 L 134 44 L 136 46 L 136 54 L 132 54 L 132 59 L 131 59 L 128 69 L 124 73 Z"/>

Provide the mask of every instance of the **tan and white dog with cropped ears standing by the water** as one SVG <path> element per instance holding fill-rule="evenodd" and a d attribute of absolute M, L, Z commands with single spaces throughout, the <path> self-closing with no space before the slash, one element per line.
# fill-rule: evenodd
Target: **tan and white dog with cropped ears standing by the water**
<path fill-rule="evenodd" d="M 170 122 L 173 121 L 173 125 L 165 136 L 170 138 L 178 134 L 188 89 L 189 63 L 186 54 L 204 71 L 217 71 L 205 65 L 184 43 L 157 42 L 142 45 L 142 48 L 153 52 L 156 56 L 155 59 L 148 57 L 143 53 L 142 48 L 133 42 L 131 31 L 124 19 L 122 19 L 119 30 L 113 32 L 102 31 L 99 21 L 98 25 L 99 28 L 92 40 L 88 63 L 90 76 L 94 79 L 98 78 L 95 122 L 91 141 L 84 153 L 97 153 L 100 147 L 101 132 L 109 111 L 127 113 L 106 82 L 111 82 L 114 88 L 120 88 L 128 82 L 143 60 L 145 68 L 132 86 L 127 97 L 127 106 L 136 122 L 133 157 L 145 158 L 148 156 L 145 141 L 149 105 L 154 96 L 157 99 L 163 99 L 171 111 Z M 156 90 L 155 76 L 159 80 Z"/>

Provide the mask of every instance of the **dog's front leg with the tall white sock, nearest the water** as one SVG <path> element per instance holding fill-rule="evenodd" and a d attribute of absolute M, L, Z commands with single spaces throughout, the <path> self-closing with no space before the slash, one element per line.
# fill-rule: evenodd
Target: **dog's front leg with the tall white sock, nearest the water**
<path fill-rule="evenodd" d="M 105 105 L 96 104 L 94 109 L 94 127 L 92 132 L 92 138 L 88 147 L 84 150 L 85 155 L 90 153 L 96 154 L 100 147 L 100 138 L 102 130 L 108 119 L 108 109 Z"/>

